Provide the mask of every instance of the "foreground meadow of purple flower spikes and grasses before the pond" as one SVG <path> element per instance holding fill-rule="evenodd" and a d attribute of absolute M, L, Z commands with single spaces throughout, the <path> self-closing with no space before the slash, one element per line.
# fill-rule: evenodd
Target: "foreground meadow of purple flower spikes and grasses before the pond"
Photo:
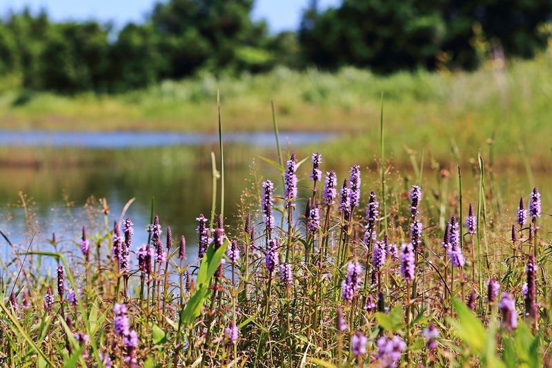
<path fill-rule="evenodd" d="M 3 365 L 551 364 L 549 188 L 520 186 L 528 166 L 501 189 L 486 153 L 466 172 L 424 171 L 413 156 L 403 175 L 384 129 L 374 167 L 353 161 L 346 174 L 327 147 L 297 156 L 278 144 L 262 159 L 277 180 L 252 173 L 232 210 L 221 142 L 197 238 L 163 226 L 154 203 L 149 224 L 96 204 L 75 238 L 48 246 L 29 222 L 28 242 L 4 255 Z"/>

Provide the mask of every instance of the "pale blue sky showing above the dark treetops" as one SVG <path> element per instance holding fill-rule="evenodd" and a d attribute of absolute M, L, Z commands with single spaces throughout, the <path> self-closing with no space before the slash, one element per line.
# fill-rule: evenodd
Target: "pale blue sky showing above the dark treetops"
<path fill-rule="evenodd" d="M 0 0 L 0 14 L 21 10 L 28 6 L 33 11 L 46 9 L 55 21 L 86 20 L 113 21 L 121 27 L 128 21 L 140 22 L 156 0 Z M 254 19 L 266 19 L 273 32 L 295 30 L 302 10 L 309 0 L 256 0 Z M 319 0 L 319 8 L 336 6 L 341 0 Z"/>

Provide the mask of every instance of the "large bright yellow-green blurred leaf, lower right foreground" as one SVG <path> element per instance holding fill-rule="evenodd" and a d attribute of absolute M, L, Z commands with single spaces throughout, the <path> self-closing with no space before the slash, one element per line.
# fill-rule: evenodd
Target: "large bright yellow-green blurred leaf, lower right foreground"
<path fill-rule="evenodd" d="M 458 336 L 468 343 L 475 354 L 482 355 L 486 333 L 481 322 L 477 320 L 472 311 L 464 303 L 453 299 L 453 305 L 460 320 L 460 322 L 453 322 L 453 327 L 457 331 Z"/>

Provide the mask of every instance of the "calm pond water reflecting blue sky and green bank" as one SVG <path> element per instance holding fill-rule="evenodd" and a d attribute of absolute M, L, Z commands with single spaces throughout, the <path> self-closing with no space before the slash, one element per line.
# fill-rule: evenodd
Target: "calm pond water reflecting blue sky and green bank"
<path fill-rule="evenodd" d="M 327 142 L 333 137 L 280 134 L 284 147 Z M 226 224 L 242 226 L 236 218 L 237 204 L 242 191 L 255 182 L 255 175 L 281 183 L 277 169 L 256 158 L 277 159 L 275 137 L 273 133 L 228 134 L 223 142 Z M 63 250 L 79 256 L 81 227 L 90 222 L 95 229 L 104 226 L 98 200 L 107 200 L 111 229 L 128 200 L 135 198 L 126 215 L 135 224 L 133 244 L 137 247 L 147 242 L 153 197 L 164 233 L 171 226 L 173 238 L 184 234 L 188 260 L 195 260 L 195 218 L 200 213 L 209 217 L 211 210 L 211 151 L 219 166 L 218 135 L 0 131 L 0 229 L 21 248 L 28 246 L 36 230 L 32 249 L 41 251 L 53 250 L 48 239 L 55 231 Z M 308 171 L 306 166 L 310 162 L 302 170 Z M 20 192 L 26 195 L 26 208 Z M 1 238 L 0 244 L 1 260 L 8 262 L 12 251 Z M 46 265 L 52 267 L 51 262 Z"/>

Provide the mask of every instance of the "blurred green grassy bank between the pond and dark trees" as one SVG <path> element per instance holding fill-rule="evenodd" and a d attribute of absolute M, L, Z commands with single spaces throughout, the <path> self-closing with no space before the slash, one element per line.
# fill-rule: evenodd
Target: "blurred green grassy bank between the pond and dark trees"
<path fill-rule="evenodd" d="M 520 162 L 517 151 L 524 146 L 531 164 L 542 167 L 550 162 L 551 66 L 547 52 L 475 72 L 382 77 L 353 68 L 334 74 L 279 69 L 240 78 L 204 75 L 166 81 L 115 96 L 4 91 L 0 122 L 15 129 L 214 131 L 219 89 L 226 131 L 270 130 L 273 99 L 281 130 L 348 133 L 345 145 L 342 140 L 328 149 L 339 160 L 364 155 L 371 161 L 379 151 L 384 93 L 387 148 L 397 161 L 408 161 L 409 148 L 419 155 L 426 148 L 426 157 L 452 159 L 457 147 L 469 155 L 456 158 L 469 162 L 494 137 L 497 162 Z"/>

